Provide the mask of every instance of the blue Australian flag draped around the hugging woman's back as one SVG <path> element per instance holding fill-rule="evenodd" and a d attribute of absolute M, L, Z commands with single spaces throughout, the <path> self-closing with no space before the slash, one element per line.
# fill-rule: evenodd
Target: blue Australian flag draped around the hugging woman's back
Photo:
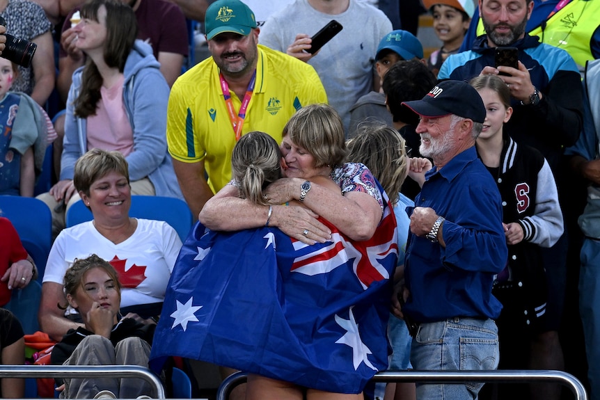
<path fill-rule="evenodd" d="M 276 228 L 197 223 L 173 269 L 150 367 L 177 355 L 317 390 L 358 393 L 388 366 L 396 222 L 374 237 L 308 246 Z"/>

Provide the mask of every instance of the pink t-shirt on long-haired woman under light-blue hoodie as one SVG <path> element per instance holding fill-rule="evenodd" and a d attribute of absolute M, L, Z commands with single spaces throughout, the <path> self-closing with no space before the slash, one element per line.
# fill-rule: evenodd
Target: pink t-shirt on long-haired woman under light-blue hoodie
<path fill-rule="evenodd" d="M 88 117 L 88 150 L 116 150 L 125 157 L 134 151 L 134 134 L 123 104 L 124 80 L 121 75 L 111 88 L 100 88 L 96 114 Z"/>

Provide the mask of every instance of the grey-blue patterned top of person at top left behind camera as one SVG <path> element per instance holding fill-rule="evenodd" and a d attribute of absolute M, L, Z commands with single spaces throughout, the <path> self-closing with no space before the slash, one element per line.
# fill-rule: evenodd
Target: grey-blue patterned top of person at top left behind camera
<path fill-rule="evenodd" d="M 0 12 L 6 20 L 6 33 L 15 38 L 33 40 L 52 30 L 52 23 L 46 17 L 44 9 L 30 0 L 8 0 L 8 6 Z M 11 90 L 31 95 L 35 77 L 31 67 L 19 65 L 19 75 L 13 81 Z"/>

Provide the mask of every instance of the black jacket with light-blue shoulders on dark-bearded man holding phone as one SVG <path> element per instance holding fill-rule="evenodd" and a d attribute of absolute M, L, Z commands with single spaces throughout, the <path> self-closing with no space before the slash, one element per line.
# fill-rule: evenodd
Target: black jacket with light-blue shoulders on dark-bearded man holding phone
<path fill-rule="evenodd" d="M 523 106 L 513 99 L 514 112 L 505 132 L 517 143 L 542 152 L 561 182 L 565 177 L 560 175 L 566 170 L 562 165 L 563 149 L 577 141 L 583 123 L 581 75 L 567 51 L 540 43 L 537 36 L 526 34 L 511 46 L 519 49 L 519 61 L 529 70 L 533 86 L 542 93 L 542 101 L 536 106 Z M 487 35 L 482 35 L 472 50 L 449 56 L 438 79 L 468 81 L 485 66 L 495 65 L 495 53 L 496 49 L 487 44 Z"/>

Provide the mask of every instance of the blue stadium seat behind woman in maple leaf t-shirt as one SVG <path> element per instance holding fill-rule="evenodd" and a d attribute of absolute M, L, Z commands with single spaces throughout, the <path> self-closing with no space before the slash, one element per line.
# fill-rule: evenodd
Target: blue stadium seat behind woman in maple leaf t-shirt
<path fill-rule="evenodd" d="M 192 225 L 191 211 L 189 211 L 187 203 L 178 198 L 132 195 L 132 207 L 129 209 L 129 216 L 166 221 L 177 231 L 182 241 L 187 237 Z M 69 207 L 65 219 L 67 227 L 72 227 L 79 223 L 91 221 L 93 216 L 88 207 L 84 205 L 84 202 L 78 201 Z"/>

